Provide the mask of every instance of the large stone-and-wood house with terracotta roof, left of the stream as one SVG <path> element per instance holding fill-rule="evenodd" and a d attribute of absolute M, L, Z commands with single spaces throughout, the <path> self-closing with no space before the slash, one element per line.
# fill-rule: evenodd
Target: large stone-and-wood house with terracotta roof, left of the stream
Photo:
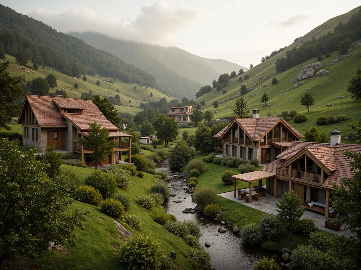
<path fill-rule="evenodd" d="M 40 152 L 55 145 L 56 150 L 80 156 L 88 166 L 95 165 L 89 156 L 92 151 L 80 145 L 78 138 L 88 136 L 89 123 L 94 121 L 106 127 L 109 139 L 117 142 L 108 160 L 98 162 L 115 164 L 121 158 L 121 151 L 130 151 L 131 135 L 120 132 L 91 100 L 26 95 L 18 118 L 18 124 L 23 126 L 23 144 L 32 145 Z"/>

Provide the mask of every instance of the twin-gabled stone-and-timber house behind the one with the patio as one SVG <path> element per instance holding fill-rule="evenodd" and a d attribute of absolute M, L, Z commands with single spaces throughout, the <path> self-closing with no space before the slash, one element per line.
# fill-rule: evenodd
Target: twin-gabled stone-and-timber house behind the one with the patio
<path fill-rule="evenodd" d="M 275 160 L 293 141 L 304 138 L 282 117 L 259 117 L 257 109 L 253 118 L 235 118 L 214 137 L 222 139 L 223 158 L 257 158 L 262 164 Z"/>

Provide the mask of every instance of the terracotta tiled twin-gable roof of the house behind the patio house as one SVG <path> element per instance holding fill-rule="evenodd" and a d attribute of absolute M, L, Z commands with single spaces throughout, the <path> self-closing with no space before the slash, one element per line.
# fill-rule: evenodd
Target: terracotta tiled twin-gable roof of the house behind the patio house
<path fill-rule="evenodd" d="M 300 132 L 294 129 L 282 117 L 234 118 L 232 123 L 230 123 L 230 125 L 228 125 L 226 129 L 222 129 L 216 135 L 214 135 L 214 137 L 222 138 L 223 135 L 225 135 L 228 131 L 229 127 L 235 122 L 238 123 L 238 125 L 242 126 L 244 131 L 252 140 L 261 139 L 272 129 L 272 127 L 274 127 L 278 123 L 282 123 L 283 125 L 287 126 L 288 129 L 290 129 L 291 132 L 293 132 L 293 134 L 296 135 L 299 139 L 304 138 L 304 136 Z"/>

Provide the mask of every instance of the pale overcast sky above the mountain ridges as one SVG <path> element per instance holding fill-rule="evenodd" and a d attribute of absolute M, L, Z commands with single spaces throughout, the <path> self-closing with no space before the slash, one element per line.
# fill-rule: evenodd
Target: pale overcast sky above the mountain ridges
<path fill-rule="evenodd" d="M 360 0 L 1 0 L 58 31 L 176 46 L 246 68 Z"/>

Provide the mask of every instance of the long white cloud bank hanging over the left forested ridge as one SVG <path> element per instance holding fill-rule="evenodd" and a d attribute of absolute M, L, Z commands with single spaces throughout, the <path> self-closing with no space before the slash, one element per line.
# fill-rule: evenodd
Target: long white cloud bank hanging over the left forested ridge
<path fill-rule="evenodd" d="M 93 31 L 124 40 L 175 45 L 178 43 L 175 35 L 199 20 L 203 12 L 186 5 L 170 6 L 161 0 L 142 6 L 135 19 L 123 19 L 114 15 L 104 18 L 86 7 L 70 7 L 60 14 L 39 8 L 29 16 L 62 32 Z"/>

